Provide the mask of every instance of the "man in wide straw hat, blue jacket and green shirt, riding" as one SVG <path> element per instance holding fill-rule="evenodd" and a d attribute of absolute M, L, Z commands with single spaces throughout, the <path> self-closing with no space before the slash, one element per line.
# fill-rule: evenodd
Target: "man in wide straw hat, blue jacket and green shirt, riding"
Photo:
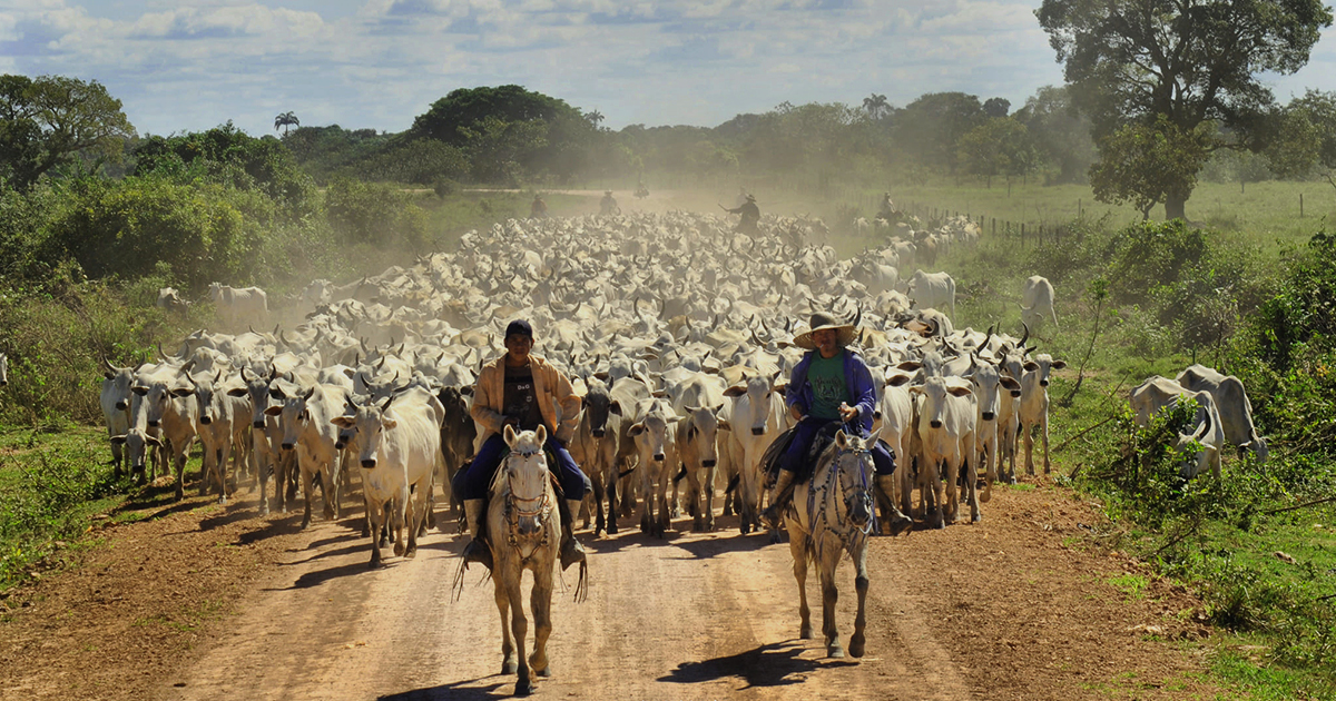
<path fill-rule="evenodd" d="M 810 453 L 819 435 L 832 439 L 842 426 L 846 433 L 860 437 L 872 430 L 876 391 L 863 358 L 847 347 L 854 336 L 854 324 L 840 324 L 832 316 L 816 312 L 812 314 L 811 328 L 794 339 L 795 346 L 808 353 L 794 366 L 784 393 L 784 403 L 798 425 L 792 430 L 792 442 L 779 458 L 779 478 L 771 491 L 770 506 L 762 513 L 762 519 L 772 527 L 782 525 L 784 509 L 794 495 L 795 475 L 806 479 L 816 463 L 816 457 Z M 895 471 L 895 455 L 880 441 L 872 445 L 876 486 L 890 497 L 894 494 L 891 473 Z M 892 530 L 908 521 L 898 513 L 892 518 Z"/>

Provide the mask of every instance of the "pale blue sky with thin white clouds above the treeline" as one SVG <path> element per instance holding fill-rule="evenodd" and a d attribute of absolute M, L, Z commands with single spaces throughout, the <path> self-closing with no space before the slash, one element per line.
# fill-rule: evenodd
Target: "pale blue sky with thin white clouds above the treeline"
<path fill-rule="evenodd" d="M 231 120 L 403 131 L 461 87 L 520 84 L 604 127 L 713 127 L 790 101 L 896 107 L 1062 83 L 1039 0 L 0 0 L 0 73 L 98 80 L 139 134 Z M 1277 99 L 1336 89 L 1328 29 Z"/>

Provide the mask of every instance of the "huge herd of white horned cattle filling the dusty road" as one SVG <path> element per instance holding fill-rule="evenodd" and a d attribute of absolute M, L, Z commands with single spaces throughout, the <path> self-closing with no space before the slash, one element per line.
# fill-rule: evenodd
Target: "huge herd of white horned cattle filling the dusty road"
<path fill-rule="evenodd" d="M 286 510 L 299 483 L 303 527 L 317 482 L 334 518 L 339 490 L 359 474 L 373 565 L 383 526 L 395 554 L 411 554 L 437 486 L 448 490 L 485 438 L 469 418 L 477 370 L 522 318 L 536 353 L 584 399 L 569 449 L 595 485 L 585 527 L 616 533 L 621 517 L 661 534 L 680 503 L 695 529 L 709 530 L 723 495 L 747 534 L 759 527 L 762 454 L 791 422 L 783 390 L 803 353 L 791 340 L 824 311 L 859 327 L 854 347 L 879 391 L 874 431 L 899 465 L 886 498 L 933 527 L 954 522 L 961 501 L 979 521 L 991 485 L 1015 481 L 1021 445 L 1034 473 L 1034 429 L 1049 471 L 1047 386 L 1065 363 L 1027 347 L 1029 331 L 954 328 L 950 275 L 900 275 L 922 260 L 923 242 L 935 256 L 978 235 L 965 219 L 931 232 L 900 224 L 882 246 L 840 259 L 802 219 L 767 216 L 756 236 L 683 212 L 509 220 L 411 267 L 343 286 L 315 280 L 282 311 L 262 290 L 215 283 L 227 332 L 195 331 L 156 363 L 107 363 L 112 455 L 118 470 L 140 475 L 175 467 L 179 498 L 199 441 L 200 494 L 226 502 L 244 471 L 266 514 Z M 1035 326 L 1057 323 L 1043 278 L 1027 280 L 1022 307 Z M 299 323 L 254 330 L 279 318 Z M 1222 430 L 1233 441 L 1228 422 Z M 975 470 L 986 471 L 979 495 Z"/>

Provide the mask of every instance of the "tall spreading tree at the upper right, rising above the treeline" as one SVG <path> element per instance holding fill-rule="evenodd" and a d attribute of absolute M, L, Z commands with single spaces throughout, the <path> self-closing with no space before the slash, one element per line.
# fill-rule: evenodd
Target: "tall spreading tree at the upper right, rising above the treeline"
<path fill-rule="evenodd" d="M 1205 154 L 1265 146 L 1275 100 L 1259 75 L 1301 68 L 1320 29 L 1332 23 L 1321 0 L 1043 0 L 1035 15 L 1097 142 L 1112 144 L 1109 138 L 1128 126 L 1145 135 L 1168 124 L 1173 131 L 1164 139 L 1117 143 L 1200 143 Z M 1200 135 L 1206 122 L 1224 128 L 1200 142 L 1182 138 Z M 1190 158 L 1205 163 L 1205 154 Z M 1196 178 L 1196 171 L 1178 172 L 1181 182 L 1160 188 L 1169 219 L 1184 216 Z M 1128 192 L 1138 187 L 1114 186 Z M 1108 192 L 1116 195 L 1118 187 Z"/>

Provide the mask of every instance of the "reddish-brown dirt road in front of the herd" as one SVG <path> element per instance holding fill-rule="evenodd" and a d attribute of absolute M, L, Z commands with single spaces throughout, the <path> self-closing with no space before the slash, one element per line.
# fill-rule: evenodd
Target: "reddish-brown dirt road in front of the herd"
<path fill-rule="evenodd" d="M 498 674 L 501 636 L 490 582 L 478 586 L 474 567 L 462 598 L 450 598 L 460 538 L 433 531 L 415 559 L 391 557 L 387 567 L 369 571 L 369 546 L 354 530 L 355 518 L 298 533 L 293 517 L 254 518 L 253 501 L 226 513 L 202 511 L 120 526 L 114 541 L 147 541 L 150 549 L 114 542 L 80 570 L 29 590 L 33 604 L 16 606 L 0 626 L 3 696 L 510 694 L 514 677 Z M 1050 487 L 999 490 L 985 517 L 981 525 L 872 541 L 867 657 L 856 661 L 828 660 L 819 640 L 796 640 L 788 546 L 770 545 L 764 535 L 739 537 L 732 519 L 721 518 L 721 530 L 712 534 L 669 533 L 656 541 L 632 529 L 593 541 L 589 600 L 577 605 L 569 589 L 557 594 L 553 676 L 538 680 L 538 694 L 1070 700 L 1109 693 L 1188 698 L 1212 690 L 1196 674 L 1204 644 L 1164 641 L 1194 641 L 1202 633 L 1190 616 L 1194 602 L 1164 582 L 1134 594 L 1110 583 L 1136 570 L 1121 557 L 1075 545 L 1078 522 L 1092 518 L 1085 505 Z M 215 559 L 200 565 L 202 553 Z M 155 574 L 159 561 L 172 570 Z M 116 585 L 126 589 L 120 602 L 107 596 L 106 578 L 92 574 L 132 570 L 126 565 L 135 562 L 146 573 Z M 191 563 L 196 574 L 167 581 Z M 216 616 L 167 613 L 158 616 L 199 621 L 142 624 L 156 621 L 143 612 L 160 601 L 163 589 L 220 571 L 235 577 L 204 594 L 214 601 L 231 592 Z M 99 594 L 88 593 L 88 578 L 100 582 Z M 847 641 L 856 601 L 847 563 L 840 583 L 839 625 Z M 808 586 L 815 596 L 815 582 Z M 118 606 L 138 613 L 118 616 Z M 140 622 L 127 624 L 127 616 Z M 159 642 L 147 645 L 146 638 Z M 90 640 L 99 640 L 102 650 L 148 649 L 136 656 L 80 649 Z"/>

